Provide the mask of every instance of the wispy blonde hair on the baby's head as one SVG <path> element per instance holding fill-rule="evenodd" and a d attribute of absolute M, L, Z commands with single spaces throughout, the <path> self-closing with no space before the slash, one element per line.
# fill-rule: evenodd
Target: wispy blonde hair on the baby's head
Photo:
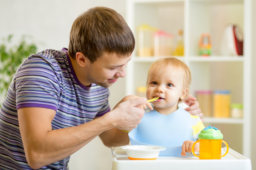
<path fill-rule="evenodd" d="M 164 57 L 164 58 L 160 58 L 158 60 L 156 60 L 149 68 L 148 70 L 148 78 L 149 75 L 152 73 L 152 71 L 156 71 L 156 70 L 167 70 L 168 67 L 172 67 L 173 70 L 176 71 L 180 71 L 180 73 L 183 76 L 183 90 L 188 89 L 188 92 L 185 96 L 185 98 L 187 97 L 188 93 L 189 93 L 189 86 L 191 84 L 191 72 L 190 69 L 188 68 L 188 66 L 183 63 L 182 61 L 180 61 L 179 59 L 175 58 L 175 57 Z M 147 83 L 146 83 L 146 87 L 148 85 L 148 78 L 147 78 Z M 184 98 L 184 99 L 185 99 Z M 182 100 L 179 99 L 179 103 Z"/>

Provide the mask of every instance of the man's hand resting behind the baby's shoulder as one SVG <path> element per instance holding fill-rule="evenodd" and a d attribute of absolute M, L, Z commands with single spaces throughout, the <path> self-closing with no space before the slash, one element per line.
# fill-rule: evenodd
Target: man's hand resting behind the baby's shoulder
<path fill-rule="evenodd" d="M 201 109 L 199 108 L 199 103 L 196 101 L 196 98 L 189 94 L 183 102 L 189 106 L 185 110 L 188 111 L 191 115 L 200 117 L 201 121 L 204 123 L 204 114 L 201 113 Z"/>

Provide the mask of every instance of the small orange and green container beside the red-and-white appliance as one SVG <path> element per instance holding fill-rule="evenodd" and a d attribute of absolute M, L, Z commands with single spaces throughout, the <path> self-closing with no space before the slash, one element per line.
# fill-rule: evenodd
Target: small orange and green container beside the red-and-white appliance
<path fill-rule="evenodd" d="M 212 54 L 211 36 L 203 33 L 199 39 L 199 55 L 209 56 Z"/>

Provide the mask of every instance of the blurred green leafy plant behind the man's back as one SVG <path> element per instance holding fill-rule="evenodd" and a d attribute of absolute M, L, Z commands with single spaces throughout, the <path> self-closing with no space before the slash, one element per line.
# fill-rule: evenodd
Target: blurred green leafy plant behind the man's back
<path fill-rule="evenodd" d="M 3 38 L 0 44 L 0 94 L 7 92 L 12 78 L 20 64 L 29 55 L 36 53 L 36 45 L 27 43 L 28 36 L 23 35 L 17 45 L 12 45 L 12 35 Z"/>

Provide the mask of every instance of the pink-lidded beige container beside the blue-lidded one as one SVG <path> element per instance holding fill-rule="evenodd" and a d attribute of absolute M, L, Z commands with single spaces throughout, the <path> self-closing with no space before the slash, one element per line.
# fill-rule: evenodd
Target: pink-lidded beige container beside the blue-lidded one
<path fill-rule="evenodd" d="M 196 91 L 196 99 L 200 104 L 201 112 L 205 117 L 212 116 L 212 91 L 199 90 Z"/>

